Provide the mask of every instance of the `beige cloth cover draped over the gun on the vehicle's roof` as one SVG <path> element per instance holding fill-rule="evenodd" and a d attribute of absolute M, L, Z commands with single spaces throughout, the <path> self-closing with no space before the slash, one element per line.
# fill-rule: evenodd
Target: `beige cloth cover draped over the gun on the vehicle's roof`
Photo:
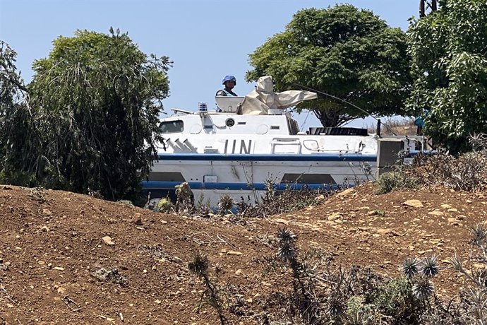
<path fill-rule="evenodd" d="M 298 105 L 303 100 L 318 98 L 316 93 L 305 90 L 287 90 L 274 93 L 272 77 L 258 78 L 257 87 L 245 96 L 239 114 L 266 115 L 269 110 L 284 110 L 287 107 Z M 272 111 L 271 111 L 272 112 Z"/>

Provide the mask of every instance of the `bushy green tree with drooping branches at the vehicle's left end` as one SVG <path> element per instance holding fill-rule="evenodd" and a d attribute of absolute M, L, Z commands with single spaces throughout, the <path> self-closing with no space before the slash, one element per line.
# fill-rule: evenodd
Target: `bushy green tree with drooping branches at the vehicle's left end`
<path fill-rule="evenodd" d="M 167 57 L 148 58 L 127 34 L 78 30 L 34 62 L 29 85 L 44 186 L 133 199 L 160 141 Z M 42 158 L 42 159 L 39 159 Z"/>

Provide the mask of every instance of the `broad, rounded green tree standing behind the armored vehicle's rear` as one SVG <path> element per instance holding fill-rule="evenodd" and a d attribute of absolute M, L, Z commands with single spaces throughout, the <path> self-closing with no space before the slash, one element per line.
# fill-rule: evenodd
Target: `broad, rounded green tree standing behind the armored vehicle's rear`
<path fill-rule="evenodd" d="M 370 114 L 401 114 L 411 81 L 406 40 L 371 11 L 351 5 L 303 9 L 249 55 L 253 69 L 246 79 L 272 76 L 277 91 L 303 85 Z M 368 115 L 325 95 L 297 108 L 313 110 L 323 126 Z"/>

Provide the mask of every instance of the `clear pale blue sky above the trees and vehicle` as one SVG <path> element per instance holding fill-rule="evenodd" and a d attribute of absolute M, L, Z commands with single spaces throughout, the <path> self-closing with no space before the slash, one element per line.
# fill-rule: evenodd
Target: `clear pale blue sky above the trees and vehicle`
<path fill-rule="evenodd" d="M 244 81 L 251 69 L 248 54 L 282 32 L 300 9 L 337 3 L 370 9 L 403 30 L 419 8 L 419 0 L 0 0 L 0 40 L 17 52 L 17 68 L 29 83 L 32 62 L 47 57 L 59 35 L 119 28 L 146 54 L 174 61 L 165 112 L 172 107 L 196 110 L 198 102 L 214 107 L 213 96 L 227 74 L 236 76 L 239 95 L 253 90 L 255 83 Z M 297 117 L 300 124 L 305 118 Z M 319 122 L 310 115 L 308 124 Z"/>

